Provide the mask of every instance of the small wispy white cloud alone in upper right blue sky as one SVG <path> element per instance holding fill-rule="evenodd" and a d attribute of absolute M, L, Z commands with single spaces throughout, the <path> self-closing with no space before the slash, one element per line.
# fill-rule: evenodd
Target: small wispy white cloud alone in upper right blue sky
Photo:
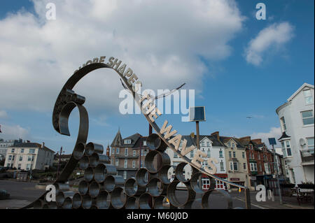
<path fill-rule="evenodd" d="M 293 38 L 293 26 L 288 22 L 274 23 L 253 38 L 245 49 L 246 61 L 258 66 L 267 52 L 277 51 Z"/>

